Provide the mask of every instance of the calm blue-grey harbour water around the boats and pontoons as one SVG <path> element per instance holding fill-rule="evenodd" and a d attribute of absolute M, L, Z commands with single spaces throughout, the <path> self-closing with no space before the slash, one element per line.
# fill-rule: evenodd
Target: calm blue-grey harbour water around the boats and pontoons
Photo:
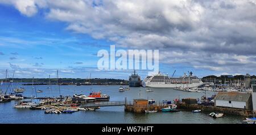
<path fill-rule="evenodd" d="M 22 85 L 15 84 L 13 87 L 20 87 Z M 23 86 L 26 91 L 23 93 L 25 96 L 35 95 L 32 92 L 32 86 Z M 51 87 L 52 90 L 47 88 Z M 181 92 L 173 89 L 154 89 L 154 92 L 146 93 L 144 88 L 131 88 L 126 92 L 118 92 L 118 85 L 105 86 L 105 85 L 93 85 L 93 86 L 75 86 L 75 85 L 63 85 L 60 86 L 62 95 L 73 94 L 86 94 L 92 91 L 101 90 L 102 93 L 110 95 L 110 101 L 124 101 L 127 97 L 127 101 L 133 101 L 134 98 L 155 99 L 156 101 L 162 101 L 163 99 L 175 99 L 175 98 L 200 98 L 204 93 L 188 93 Z M 1 86 L 5 92 L 5 86 Z M 43 90 L 43 93 L 38 93 L 38 97 L 58 96 L 59 90 L 57 85 L 38 85 L 36 89 Z M 139 94 L 141 90 L 141 94 Z M 213 92 L 207 92 L 208 97 Z M 42 110 L 30 110 L 30 109 L 17 109 L 13 108 L 13 105 L 18 101 L 11 101 L 7 103 L 0 103 L 0 123 L 242 123 L 243 117 L 225 115 L 224 117 L 213 119 L 208 116 L 207 113 L 193 114 L 190 111 L 180 112 L 158 112 L 152 114 L 134 114 L 131 112 L 125 112 L 123 106 L 118 107 L 101 107 L 96 111 L 79 111 L 73 114 L 44 114 Z"/>

